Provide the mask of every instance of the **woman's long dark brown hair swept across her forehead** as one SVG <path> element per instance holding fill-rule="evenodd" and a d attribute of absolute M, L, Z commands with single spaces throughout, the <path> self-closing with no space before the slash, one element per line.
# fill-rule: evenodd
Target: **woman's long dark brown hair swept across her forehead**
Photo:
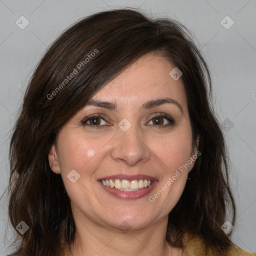
<path fill-rule="evenodd" d="M 199 136 L 201 152 L 169 213 L 166 239 L 182 247 L 185 232 L 196 234 L 221 253 L 232 244 L 220 228 L 227 208 L 234 224 L 235 205 L 223 134 L 207 99 L 211 97 L 207 65 L 179 22 L 152 19 L 126 8 L 95 13 L 65 30 L 29 81 L 10 142 L 8 186 L 10 222 L 15 228 L 22 220 L 29 229 L 22 235 L 17 232 L 22 241 L 11 255 L 59 255 L 62 235 L 67 243 L 72 241 L 70 201 L 61 176 L 50 169 L 50 146 L 60 127 L 94 93 L 149 52 L 166 57 L 182 71 L 193 145 Z M 72 72 L 73 78 L 65 80 Z"/>

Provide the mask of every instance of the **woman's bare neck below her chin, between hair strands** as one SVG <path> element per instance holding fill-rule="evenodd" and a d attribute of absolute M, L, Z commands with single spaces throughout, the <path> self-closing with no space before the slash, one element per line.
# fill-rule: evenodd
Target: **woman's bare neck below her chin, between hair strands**
<path fill-rule="evenodd" d="M 74 219 L 76 231 L 70 244 L 72 256 L 182 255 L 182 249 L 170 246 L 166 240 L 167 216 L 144 228 L 127 231 L 89 219 Z"/>

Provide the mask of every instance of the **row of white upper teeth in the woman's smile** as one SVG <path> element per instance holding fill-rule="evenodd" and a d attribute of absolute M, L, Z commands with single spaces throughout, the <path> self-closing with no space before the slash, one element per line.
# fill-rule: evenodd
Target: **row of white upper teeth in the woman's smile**
<path fill-rule="evenodd" d="M 147 179 L 139 179 L 139 180 L 127 180 L 127 179 L 115 179 L 114 181 L 112 179 L 101 179 L 101 182 L 105 186 L 114 187 L 121 191 L 136 191 L 138 189 L 142 189 L 144 187 L 148 187 L 151 185 L 151 180 Z"/>

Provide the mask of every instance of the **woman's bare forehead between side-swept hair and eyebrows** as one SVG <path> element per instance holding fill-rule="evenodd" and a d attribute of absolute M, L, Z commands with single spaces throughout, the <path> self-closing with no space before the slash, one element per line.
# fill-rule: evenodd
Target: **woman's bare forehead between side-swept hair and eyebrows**
<path fill-rule="evenodd" d="M 170 96 L 185 105 L 186 98 L 181 78 L 174 80 L 169 75 L 174 67 L 173 63 L 162 56 L 148 53 L 97 91 L 92 99 L 112 101 L 121 105 Z"/>

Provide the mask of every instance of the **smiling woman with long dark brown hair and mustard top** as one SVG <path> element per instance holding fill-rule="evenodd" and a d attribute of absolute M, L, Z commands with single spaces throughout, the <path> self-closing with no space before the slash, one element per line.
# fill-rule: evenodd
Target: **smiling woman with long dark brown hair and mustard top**
<path fill-rule="evenodd" d="M 116 9 L 68 28 L 34 71 L 11 138 L 9 218 L 22 238 L 11 255 L 252 255 L 229 238 L 210 92 L 177 21 Z"/>

